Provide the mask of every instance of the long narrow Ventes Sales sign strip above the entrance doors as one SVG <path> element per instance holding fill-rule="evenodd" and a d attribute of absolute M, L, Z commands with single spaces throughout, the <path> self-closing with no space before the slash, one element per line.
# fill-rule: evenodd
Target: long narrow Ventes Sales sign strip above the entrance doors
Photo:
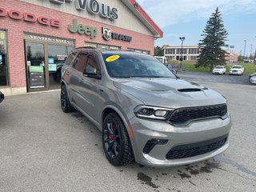
<path fill-rule="evenodd" d="M 38 36 L 38 35 L 33 35 L 33 34 L 24 34 L 24 38 L 38 40 L 40 42 L 57 42 L 57 43 L 74 46 L 74 41 L 70 40 L 70 39 L 48 38 L 48 37 L 43 37 L 43 36 Z"/>

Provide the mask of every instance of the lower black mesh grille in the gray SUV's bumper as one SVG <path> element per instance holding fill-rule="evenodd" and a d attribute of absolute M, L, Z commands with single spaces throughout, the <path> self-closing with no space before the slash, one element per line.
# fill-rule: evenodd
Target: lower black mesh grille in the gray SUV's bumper
<path fill-rule="evenodd" d="M 214 138 L 206 142 L 197 142 L 181 146 L 174 146 L 167 154 L 166 159 L 190 158 L 199 154 L 206 154 L 212 150 L 217 150 L 226 142 L 227 135 Z"/>

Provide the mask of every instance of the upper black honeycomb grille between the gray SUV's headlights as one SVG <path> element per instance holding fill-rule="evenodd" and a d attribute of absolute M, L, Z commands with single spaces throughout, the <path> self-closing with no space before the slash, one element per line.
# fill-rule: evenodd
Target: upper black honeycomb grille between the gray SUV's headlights
<path fill-rule="evenodd" d="M 174 125 L 182 125 L 200 118 L 223 117 L 226 111 L 226 104 L 181 108 L 174 110 L 169 122 Z"/>

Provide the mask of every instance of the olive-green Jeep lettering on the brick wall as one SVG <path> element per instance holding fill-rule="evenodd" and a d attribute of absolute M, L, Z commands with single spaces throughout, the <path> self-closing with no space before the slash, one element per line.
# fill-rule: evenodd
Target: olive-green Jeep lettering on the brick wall
<path fill-rule="evenodd" d="M 78 20 L 76 18 L 73 19 L 72 25 L 67 26 L 67 29 L 71 33 L 85 34 L 86 36 L 90 36 L 90 38 L 96 38 L 98 35 L 98 30 L 96 27 L 78 24 Z"/>

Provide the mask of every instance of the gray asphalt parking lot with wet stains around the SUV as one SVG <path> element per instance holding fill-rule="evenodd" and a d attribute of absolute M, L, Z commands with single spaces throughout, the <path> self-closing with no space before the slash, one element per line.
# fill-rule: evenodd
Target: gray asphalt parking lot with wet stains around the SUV
<path fill-rule="evenodd" d="M 194 81 L 229 100 L 230 148 L 205 162 L 165 169 L 111 166 L 96 127 L 78 112 L 62 113 L 59 90 L 6 97 L 0 191 L 256 191 L 256 86 L 201 79 Z"/>

